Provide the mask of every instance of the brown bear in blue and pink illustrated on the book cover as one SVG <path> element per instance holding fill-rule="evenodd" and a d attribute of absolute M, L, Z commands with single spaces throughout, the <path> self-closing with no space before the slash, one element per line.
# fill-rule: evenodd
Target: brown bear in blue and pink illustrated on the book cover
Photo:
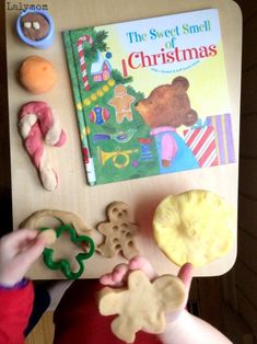
<path fill-rule="evenodd" d="M 177 77 L 171 84 L 162 84 L 135 104 L 135 108 L 151 128 L 159 153 L 160 173 L 199 168 L 191 150 L 176 133 L 182 125 L 192 126 L 198 114 L 190 107 L 187 94 L 189 82 Z"/>

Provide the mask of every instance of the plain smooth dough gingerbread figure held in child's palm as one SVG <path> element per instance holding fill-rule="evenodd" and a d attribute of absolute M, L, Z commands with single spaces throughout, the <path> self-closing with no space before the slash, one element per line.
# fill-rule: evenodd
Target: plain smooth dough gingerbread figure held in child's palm
<path fill-rule="evenodd" d="M 140 330 L 162 333 L 165 314 L 182 308 L 185 300 L 185 286 L 178 277 L 163 275 L 151 283 L 142 271 L 133 271 L 127 288 L 105 287 L 100 291 L 98 308 L 102 316 L 118 314 L 112 331 L 126 343 L 133 343 Z"/>

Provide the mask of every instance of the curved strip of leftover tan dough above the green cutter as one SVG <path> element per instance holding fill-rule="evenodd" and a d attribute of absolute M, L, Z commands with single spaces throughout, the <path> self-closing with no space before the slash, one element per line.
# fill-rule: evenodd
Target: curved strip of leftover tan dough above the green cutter
<path fill-rule="evenodd" d="M 77 214 L 70 211 L 62 210 L 54 210 L 54 209 L 43 209 L 33 213 L 30 217 L 27 217 L 21 225 L 20 228 L 38 228 L 38 222 L 43 218 L 52 217 L 54 219 L 59 220 L 63 225 L 69 225 L 74 228 L 79 236 L 89 234 L 90 229 L 87 229 L 84 220 L 79 217 Z M 44 226 L 40 226 L 44 227 Z"/>

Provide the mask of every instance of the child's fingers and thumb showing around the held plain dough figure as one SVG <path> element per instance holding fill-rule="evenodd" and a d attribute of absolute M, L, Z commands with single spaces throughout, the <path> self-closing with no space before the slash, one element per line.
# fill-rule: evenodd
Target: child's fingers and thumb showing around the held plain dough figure
<path fill-rule="evenodd" d="M 117 265 L 112 273 L 103 275 L 100 282 L 106 286 L 121 287 L 126 284 L 129 272 L 135 270 L 142 270 L 149 277 L 150 280 L 157 277 L 157 274 L 153 270 L 150 262 L 142 256 L 135 256 L 128 264 Z M 192 278 L 192 265 L 187 263 L 178 272 L 178 277 L 183 280 L 187 295 L 189 294 L 191 278 Z M 179 310 L 173 311 L 166 316 L 167 322 L 173 322 L 184 310 L 188 297 L 186 298 L 185 305 Z"/>

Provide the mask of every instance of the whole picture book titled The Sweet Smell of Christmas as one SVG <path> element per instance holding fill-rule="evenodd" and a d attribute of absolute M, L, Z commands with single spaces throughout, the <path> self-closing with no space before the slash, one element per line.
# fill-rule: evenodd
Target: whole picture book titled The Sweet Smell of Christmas
<path fill-rule="evenodd" d="M 217 9 L 63 32 L 90 185 L 235 162 Z"/>

